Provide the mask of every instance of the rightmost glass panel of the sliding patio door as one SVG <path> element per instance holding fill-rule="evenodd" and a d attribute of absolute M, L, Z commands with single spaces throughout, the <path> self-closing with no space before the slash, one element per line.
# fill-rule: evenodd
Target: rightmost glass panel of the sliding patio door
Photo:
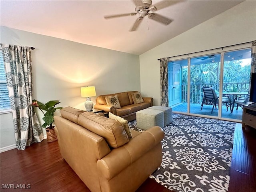
<path fill-rule="evenodd" d="M 222 118 L 242 120 L 242 103 L 246 100 L 249 90 L 251 49 L 225 52 L 223 65 L 222 96 L 228 97 L 230 113 L 222 112 Z M 226 106 L 223 105 L 223 110 Z"/>

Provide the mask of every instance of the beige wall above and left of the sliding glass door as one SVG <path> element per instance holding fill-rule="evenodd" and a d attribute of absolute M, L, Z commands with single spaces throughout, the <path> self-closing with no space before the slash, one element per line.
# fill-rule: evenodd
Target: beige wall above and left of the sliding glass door
<path fill-rule="evenodd" d="M 141 92 L 160 105 L 158 58 L 256 40 L 256 1 L 245 1 L 140 55 Z"/>

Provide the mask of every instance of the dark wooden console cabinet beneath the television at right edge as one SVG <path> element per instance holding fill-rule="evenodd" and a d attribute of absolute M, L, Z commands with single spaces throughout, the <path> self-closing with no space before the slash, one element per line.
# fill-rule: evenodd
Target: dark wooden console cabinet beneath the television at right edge
<path fill-rule="evenodd" d="M 256 108 L 249 105 L 243 106 L 242 127 L 244 128 L 245 125 L 248 125 L 256 129 Z"/>

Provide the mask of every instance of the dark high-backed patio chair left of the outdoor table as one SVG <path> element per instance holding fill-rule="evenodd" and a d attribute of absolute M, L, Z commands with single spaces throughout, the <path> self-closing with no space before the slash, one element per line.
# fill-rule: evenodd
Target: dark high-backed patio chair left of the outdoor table
<path fill-rule="evenodd" d="M 203 92 L 204 92 L 204 98 L 201 104 L 201 110 L 204 104 L 213 105 L 212 111 L 214 106 L 215 106 L 215 109 L 217 109 L 216 105 L 218 105 L 219 103 L 219 96 L 216 95 L 215 90 L 212 87 L 205 86 L 203 87 Z M 228 107 L 230 107 L 230 112 L 231 112 L 231 100 L 229 96 L 222 97 L 222 103 L 226 103 L 227 111 L 228 111 Z"/>

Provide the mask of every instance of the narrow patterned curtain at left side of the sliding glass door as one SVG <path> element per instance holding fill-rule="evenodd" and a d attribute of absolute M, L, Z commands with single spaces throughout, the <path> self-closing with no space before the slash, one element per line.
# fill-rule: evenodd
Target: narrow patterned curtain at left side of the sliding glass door
<path fill-rule="evenodd" d="M 161 91 L 161 106 L 169 106 L 168 96 L 168 59 L 160 59 L 160 91 Z"/>

